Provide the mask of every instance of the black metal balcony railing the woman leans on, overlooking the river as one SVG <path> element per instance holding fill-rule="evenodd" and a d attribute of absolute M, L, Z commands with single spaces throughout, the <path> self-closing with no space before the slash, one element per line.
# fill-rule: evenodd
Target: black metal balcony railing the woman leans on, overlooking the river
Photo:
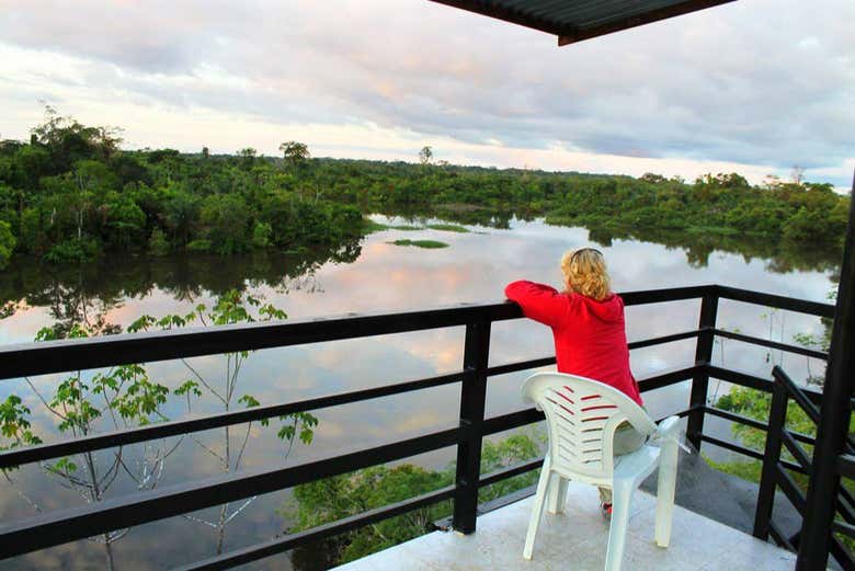
<path fill-rule="evenodd" d="M 716 315 L 719 300 L 744 301 L 821 317 L 832 317 L 834 307 L 828 304 L 718 285 L 630 292 L 622 294 L 622 296 L 627 306 L 691 299 L 700 300 L 699 321 L 696 330 L 635 341 L 629 344 L 630 350 L 635 350 L 687 339 L 697 340 L 694 363 L 675 370 L 663 372 L 650 378 L 641 379 L 639 386 L 642 391 L 648 391 L 676 382 L 691 381 L 692 390 L 688 407 L 685 410 L 673 411 L 675 414 L 688 418 L 688 439 L 697 447 L 700 447 L 702 443 L 707 443 L 751 458 L 763 459 L 763 454 L 759 450 L 752 450 L 740 444 L 716 438 L 704 433 L 706 414 L 713 414 L 761 430 L 768 430 L 768 425 L 765 423 L 710 406 L 707 400 L 710 378 L 722 379 L 734 385 L 765 392 L 774 392 L 777 386 L 770 379 L 711 365 L 715 338 L 717 335 L 726 336 L 739 342 L 789 351 L 795 354 L 818 358 L 823 358 L 825 355 L 821 352 L 795 345 L 717 329 Z M 260 421 L 283 414 L 317 411 L 328 407 L 361 402 L 431 387 L 451 384 L 459 384 L 460 386 L 460 414 L 456 426 L 299 466 L 273 467 L 217 476 L 5 523 L 0 526 L 0 558 L 19 556 L 113 529 L 155 522 L 219 505 L 225 502 L 292 488 L 300 483 L 449 446 L 457 447 L 457 471 L 455 483 L 451 487 L 314 529 L 278 537 L 264 544 L 227 552 L 204 561 L 196 561 L 181 569 L 228 569 L 449 499 L 454 500 L 454 527 L 463 533 L 472 533 L 476 528 L 479 488 L 539 467 L 539 461 L 527 461 L 491 475 L 480 473 L 481 443 L 485 436 L 543 420 L 543 413 L 537 412 L 535 409 L 525 409 L 499 416 L 485 418 L 485 399 L 490 377 L 555 363 L 555 357 L 543 357 L 520 363 L 488 366 L 491 324 L 497 321 L 518 319 L 521 317 L 522 312 L 515 304 L 499 302 L 464 305 L 426 311 L 251 323 L 133 335 L 122 334 L 75 341 L 30 343 L 0 349 L 0 379 L 8 379 L 25 375 L 91 369 L 127 363 L 150 363 L 180 357 L 293 346 L 389 333 L 460 326 L 466 328 L 464 363 L 460 370 L 451 374 L 330 395 L 298 402 L 283 402 L 240 411 L 223 412 L 2 452 L 0 453 L 0 468 L 9 468 L 27 462 L 59 458 L 70 454 L 99 450 L 250 421 Z M 809 402 L 816 403 L 821 400 L 821 393 L 819 392 L 805 391 L 805 395 Z M 772 433 L 775 433 L 775 431 L 770 432 L 770 434 Z M 813 439 L 808 435 L 793 434 L 793 438 L 807 444 L 813 443 Z M 774 446 L 774 442 L 772 444 Z M 786 469 L 798 470 L 803 468 L 799 462 L 778 462 L 778 465 Z M 848 462 L 847 459 L 844 462 L 844 467 L 847 470 L 855 470 L 855 464 Z"/>

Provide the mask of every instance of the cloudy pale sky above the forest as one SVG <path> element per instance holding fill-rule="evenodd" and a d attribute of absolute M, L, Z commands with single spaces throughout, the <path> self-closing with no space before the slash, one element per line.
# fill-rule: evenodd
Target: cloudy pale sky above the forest
<path fill-rule="evenodd" d="M 852 185 L 855 2 L 739 0 L 557 47 L 429 0 L 0 0 L 0 138 Z"/>

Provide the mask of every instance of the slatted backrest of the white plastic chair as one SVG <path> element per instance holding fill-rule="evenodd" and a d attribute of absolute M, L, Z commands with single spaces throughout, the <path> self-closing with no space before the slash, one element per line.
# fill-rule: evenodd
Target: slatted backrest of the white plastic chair
<path fill-rule="evenodd" d="M 523 396 L 546 414 L 551 468 L 574 480 L 612 480 L 614 435 L 622 422 L 646 435 L 657 430 L 624 392 L 585 377 L 536 373 L 525 381 Z"/>

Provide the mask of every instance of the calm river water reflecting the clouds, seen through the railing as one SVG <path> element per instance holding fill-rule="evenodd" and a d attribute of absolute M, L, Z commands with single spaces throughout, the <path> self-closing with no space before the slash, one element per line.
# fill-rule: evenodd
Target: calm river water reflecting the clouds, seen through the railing
<path fill-rule="evenodd" d="M 374 217 L 378 221 L 401 224 L 397 218 Z M 417 220 L 424 224 L 429 220 Z M 412 220 L 410 220 L 412 222 Z M 210 305 L 218 294 L 242 288 L 284 309 L 292 319 L 333 316 L 349 312 L 383 312 L 458 302 L 501 300 L 504 285 L 529 278 L 558 285 L 558 261 L 570 248 L 586 245 L 583 228 L 552 227 L 542 221 L 512 219 L 508 228 L 469 226 L 469 232 L 423 229 L 384 230 L 369 235 L 335 252 L 290 254 L 248 254 L 230 258 L 170 256 L 166 259 L 106 258 L 83 269 L 47 270 L 36 263 L 19 261 L 0 276 L 0 301 L 8 302 L 0 320 L 0 343 L 20 343 L 34 339 L 37 331 L 56 321 L 102 320 L 126 327 L 140 315 L 185 313 L 198 304 Z M 431 239 L 449 244 L 444 249 L 419 249 L 390 243 L 397 239 Z M 609 264 L 617 292 L 720 283 L 725 285 L 825 301 L 835 287 L 833 264 L 803 259 L 751 256 L 763 251 L 756 244 L 738 253 L 732 244 L 717 249 L 715 240 L 703 248 L 696 243 L 681 247 L 670 240 L 660 242 L 596 236 L 597 247 Z M 605 244 L 605 245 L 603 245 Z M 767 245 L 767 244 L 766 244 Z M 829 258 L 829 256 L 825 256 Z M 833 258 L 833 256 L 832 256 Z M 627 334 L 630 341 L 685 331 L 697 326 L 698 301 L 677 301 L 627 308 Z M 819 336 L 820 320 L 798 313 L 722 301 L 719 327 L 774 340 L 793 342 L 796 333 Z M 293 349 L 252 353 L 241 367 L 237 396 L 250 393 L 261 403 L 286 402 L 345 390 L 392 384 L 459 369 L 463 361 L 463 328 L 386 335 L 381 339 L 353 340 Z M 551 336 L 536 323 L 513 321 L 493 326 L 491 364 L 546 356 L 551 353 Z M 684 341 L 632 353 L 632 369 L 642 379 L 672 367 L 682 367 L 694 358 L 694 342 Z M 773 364 L 783 363 L 796 378 L 820 374 L 822 366 L 805 357 L 780 355 L 761 347 L 726 341 L 715 347 L 715 359 L 729 367 L 768 376 Z M 192 369 L 190 368 L 192 367 Z M 198 374 L 215 389 L 225 382 L 226 357 L 189 359 L 186 364 L 149 364 L 153 380 L 176 387 Z M 86 375 L 92 375 L 92 372 Z M 490 380 L 488 415 L 522 407 L 520 386 L 528 372 Z M 30 379 L 33 387 L 48 395 L 64 376 Z M 721 395 L 726 385 L 713 381 L 710 392 Z M 56 420 L 45 411 L 24 379 L 0 384 L 0 399 L 20 395 L 33 411 L 35 431 L 47 442 L 61 437 Z M 292 448 L 275 437 L 276 426 L 253 424 L 230 433 L 232 455 L 247 438 L 242 466 L 246 469 L 296 465 L 453 426 L 459 407 L 459 388 L 441 387 L 395 398 L 316 411 L 319 425 L 311 445 L 297 442 Z M 685 408 L 686 384 L 656 392 L 646 400 L 654 416 Z M 235 408 L 238 404 L 232 403 Z M 204 396 L 194 400 L 192 413 L 216 412 L 223 404 Z M 171 419 L 187 414 L 180 400 L 170 401 L 166 412 Z M 729 437 L 725 423 L 708 421 L 709 429 Z M 105 496 L 118 496 L 136 490 L 137 478 L 151 458 L 174 447 L 149 482 L 158 486 L 179 483 L 220 473 L 223 431 L 196 435 L 196 439 L 170 439 L 148 448 L 126 449 L 125 466 L 112 480 Z M 132 447 L 133 448 L 133 447 Z M 705 452 L 716 454 L 713 447 Z M 431 468 L 445 467 L 453 450 L 414 457 L 410 461 Z M 98 458 L 106 475 L 114 458 L 112 450 Z M 232 456 L 233 458 L 233 456 Z M 148 462 L 148 464 L 147 464 Z M 64 488 L 62 479 L 49 476 L 36 466 L 10 472 L 14 486 L 0 483 L 0 517 L 11 521 L 32 516 L 34 503 L 44 511 L 80 505 L 75 489 Z M 226 526 L 225 549 L 260 543 L 287 526 L 283 505 L 287 491 L 229 507 L 235 513 Z M 214 555 L 217 534 L 209 523 L 217 522 L 218 510 L 194 514 L 195 519 L 175 517 L 139 526 L 112 544 L 117 570 L 169 569 L 176 564 Z M 207 523 L 206 523 L 207 522 Z M 103 569 L 104 547 L 78 541 L 3 562 L 3 569 Z M 299 566 L 300 569 L 308 567 Z M 273 558 L 248 569 L 288 569 L 287 556 Z"/>

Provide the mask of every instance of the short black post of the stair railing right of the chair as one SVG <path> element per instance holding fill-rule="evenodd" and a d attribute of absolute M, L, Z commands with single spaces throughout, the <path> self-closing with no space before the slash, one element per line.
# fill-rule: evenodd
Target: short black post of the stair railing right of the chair
<path fill-rule="evenodd" d="M 772 509 L 775 505 L 775 490 L 778 483 L 777 466 L 780 460 L 782 431 L 787 426 L 787 391 L 775 379 L 772 386 L 772 406 L 768 410 L 766 448 L 763 455 L 763 471 L 760 477 L 757 507 L 754 512 L 754 537 L 768 538 Z"/>

